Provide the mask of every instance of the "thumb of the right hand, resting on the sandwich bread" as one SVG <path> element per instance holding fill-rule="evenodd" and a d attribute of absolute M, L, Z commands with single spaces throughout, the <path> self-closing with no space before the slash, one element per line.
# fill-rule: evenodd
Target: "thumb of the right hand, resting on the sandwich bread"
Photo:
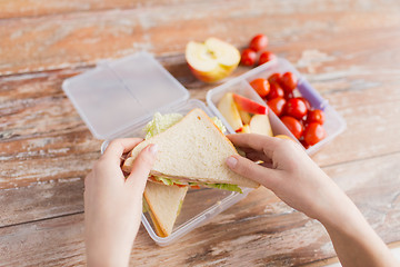
<path fill-rule="evenodd" d="M 277 170 L 254 164 L 250 159 L 239 155 L 228 157 L 227 165 L 234 172 L 254 180 L 269 189 L 273 188 L 278 181 L 277 176 L 279 174 Z"/>

